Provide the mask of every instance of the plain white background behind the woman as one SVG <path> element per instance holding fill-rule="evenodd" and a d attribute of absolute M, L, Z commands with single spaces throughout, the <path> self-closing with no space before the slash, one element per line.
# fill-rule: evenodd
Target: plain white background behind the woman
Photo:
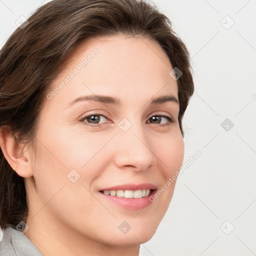
<path fill-rule="evenodd" d="M 0 47 L 21 15 L 47 1 L 0 0 Z M 197 150 L 201 156 L 178 177 L 168 211 L 140 252 L 255 255 L 256 1 L 152 2 L 191 55 L 195 93 L 184 116 L 184 162 Z M 234 124 L 228 130 L 226 118 Z"/>

